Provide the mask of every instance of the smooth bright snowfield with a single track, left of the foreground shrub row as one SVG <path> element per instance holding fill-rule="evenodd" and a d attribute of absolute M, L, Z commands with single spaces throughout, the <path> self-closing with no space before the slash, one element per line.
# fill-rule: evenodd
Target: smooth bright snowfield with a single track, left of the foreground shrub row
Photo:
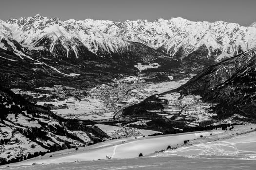
<path fill-rule="evenodd" d="M 169 145 L 177 147 L 182 145 L 184 140 L 196 140 L 200 136 L 210 136 L 210 134 L 219 134 L 222 131 L 208 131 L 197 133 L 172 134 L 161 136 L 134 137 L 110 140 L 98 143 L 88 147 L 80 147 L 78 151 L 73 153 L 70 149 L 48 153 L 43 157 L 26 160 L 19 163 L 10 164 L 10 166 L 32 165 L 36 164 L 52 164 L 74 161 L 89 161 L 98 159 L 125 159 L 136 158 L 140 153 L 149 155 L 154 152 L 162 151 Z M 67 154 L 68 153 L 68 154 Z M 49 155 L 52 155 L 49 157 Z"/>

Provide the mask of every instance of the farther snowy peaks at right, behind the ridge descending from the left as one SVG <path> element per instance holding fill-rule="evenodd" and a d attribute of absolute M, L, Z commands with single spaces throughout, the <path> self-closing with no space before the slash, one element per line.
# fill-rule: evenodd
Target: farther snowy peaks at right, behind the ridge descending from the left
<path fill-rule="evenodd" d="M 169 55 L 186 56 L 202 45 L 208 49 L 208 57 L 222 53 L 236 55 L 238 48 L 246 51 L 255 46 L 256 29 L 223 21 L 191 22 L 183 18 L 112 22 L 86 19 L 65 21 L 74 28 L 91 32 L 98 30 L 111 36 L 141 42 Z M 239 47 L 240 46 L 240 47 Z M 206 56 L 205 56 L 206 57 Z M 227 56 L 228 57 L 228 56 Z"/>

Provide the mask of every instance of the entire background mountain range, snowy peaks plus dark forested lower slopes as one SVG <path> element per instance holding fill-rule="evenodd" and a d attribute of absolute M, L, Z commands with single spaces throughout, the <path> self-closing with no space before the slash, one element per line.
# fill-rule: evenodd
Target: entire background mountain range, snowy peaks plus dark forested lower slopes
<path fill-rule="evenodd" d="M 138 72 L 135 64 L 156 60 L 161 67 L 153 75 L 159 70 L 180 75 L 255 45 L 256 27 L 223 21 L 61 21 L 40 15 L 0 21 L 2 80 L 8 79 L 13 86 L 17 81 L 20 85 L 44 84 L 41 80 L 49 75 L 53 75 L 53 84 L 61 81 L 59 77 L 80 84 L 79 76 L 84 86 L 95 85 L 118 74 L 134 75 Z M 16 83 L 8 77 L 15 77 Z"/>

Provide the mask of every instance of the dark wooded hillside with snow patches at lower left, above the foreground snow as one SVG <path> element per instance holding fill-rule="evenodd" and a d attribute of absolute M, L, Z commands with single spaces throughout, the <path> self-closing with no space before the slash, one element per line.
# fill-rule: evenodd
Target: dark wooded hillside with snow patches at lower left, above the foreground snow
<path fill-rule="evenodd" d="M 0 87 L 0 163 L 107 139 L 93 121 L 64 119 Z"/>

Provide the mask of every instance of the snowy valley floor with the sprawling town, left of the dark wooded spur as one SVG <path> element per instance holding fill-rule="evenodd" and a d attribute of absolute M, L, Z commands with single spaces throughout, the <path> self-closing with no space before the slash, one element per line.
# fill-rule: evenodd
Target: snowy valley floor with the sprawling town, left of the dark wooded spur
<path fill-rule="evenodd" d="M 40 87 L 38 90 L 46 94 L 35 92 L 22 92 L 13 89 L 15 93 L 32 95 L 37 98 L 36 104 L 51 106 L 52 112 L 67 119 L 83 120 L 111 120 L 114 116 L 120 116 L 123 108 L 143 101 L 145 98 L 175 89 L 185 84 L 189 78 L 178 81 L 170 80 L 161 83 L 146 83 L 143 77 L 130 76 L 123 79 L 115 79 L 109 85 L 102 84 L 86 90 L 87 95 L 72 87 L 55 85 L 53 88 Z M 71 96 L 70 91 L 73 90 Z M 66 94 L 65 94 L 66 93 Z M 52 96 L 59 96 L 59 99 Z M 52 97 L 50 101 L 40 99 L 41 97 Z"/>

